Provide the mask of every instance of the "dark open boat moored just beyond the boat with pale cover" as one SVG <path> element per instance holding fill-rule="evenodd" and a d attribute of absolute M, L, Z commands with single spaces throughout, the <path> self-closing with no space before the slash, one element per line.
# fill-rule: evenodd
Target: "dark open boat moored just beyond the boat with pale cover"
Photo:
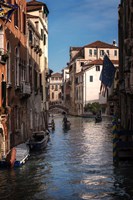
<path fill-rule="evenodd" d="M 33 132 L 28 144 L 31 150 L 42 150 L 46 148 L 48 140 L 49 131 L 36 131 Z"/>

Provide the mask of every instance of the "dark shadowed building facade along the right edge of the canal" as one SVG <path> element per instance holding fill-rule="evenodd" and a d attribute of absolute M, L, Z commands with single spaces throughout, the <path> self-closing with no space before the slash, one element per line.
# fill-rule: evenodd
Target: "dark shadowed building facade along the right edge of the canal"
<path fill-rule="evenodd" d="M 133 1 L 119 5 L 119 93 L 121 126 L 133 130 Z"/>

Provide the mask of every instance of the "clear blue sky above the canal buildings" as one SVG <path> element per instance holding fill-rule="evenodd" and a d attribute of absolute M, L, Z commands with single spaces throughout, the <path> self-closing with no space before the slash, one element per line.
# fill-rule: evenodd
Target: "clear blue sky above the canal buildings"
<path fill-rule="evenodd" d="M 69 48 L 101 40 L 118 43 L 120 0 L 43 0 L 49 9 L 49 68 L 61 72 Z"/>

